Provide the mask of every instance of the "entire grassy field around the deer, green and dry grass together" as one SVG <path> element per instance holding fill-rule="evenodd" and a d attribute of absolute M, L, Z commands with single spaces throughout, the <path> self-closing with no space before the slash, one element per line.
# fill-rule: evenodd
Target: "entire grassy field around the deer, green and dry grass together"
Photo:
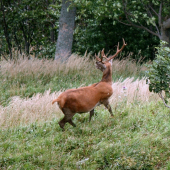
<path fill-rule="evenodd" d="M 76 114 L 63 132 L 63 116 L 51 101 L 63 90 L 90 85 L 101 72 L 88 56 L 52 60 L 1 61 L 0 169 L 170 169 L 170 114 L 143 77 L 146 67 L 128 59 L 113 62 L 110 98 Z"/>

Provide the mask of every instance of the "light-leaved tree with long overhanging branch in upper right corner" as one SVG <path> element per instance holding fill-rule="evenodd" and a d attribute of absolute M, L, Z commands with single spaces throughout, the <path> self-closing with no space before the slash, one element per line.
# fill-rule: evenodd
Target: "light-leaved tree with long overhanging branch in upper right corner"
<path fill-rule="evenodd" d="M 75 0 L 96 19 L 113 18 L 127 26 L 144 29 L 170 44 L 170 0 Z"/>

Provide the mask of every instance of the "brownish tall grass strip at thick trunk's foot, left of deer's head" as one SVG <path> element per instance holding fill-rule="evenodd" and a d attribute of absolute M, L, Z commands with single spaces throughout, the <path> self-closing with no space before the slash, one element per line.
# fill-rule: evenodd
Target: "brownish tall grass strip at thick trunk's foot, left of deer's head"
<path fill-rule="evenodd" d="M 89 60 L 89 56 L 78 57 L 77 55 L 71 55 L 67 62 L 59 62 L 55 60 L 47 59 L 30 59 L 19 58 L 18 60 L 0 62 L 1 65 L 1 75 L 17 77 L 18 74 L 22 73 L 23 77 L 28 77 L 35 75 L 36 77 L 44 76 L 54 76 L 57 73 L 62 72 L 62 74 L 67 74 L 69 71 L 79 71 L 79 70 L 90 70 L 92 67 L 92 62 Z"/>

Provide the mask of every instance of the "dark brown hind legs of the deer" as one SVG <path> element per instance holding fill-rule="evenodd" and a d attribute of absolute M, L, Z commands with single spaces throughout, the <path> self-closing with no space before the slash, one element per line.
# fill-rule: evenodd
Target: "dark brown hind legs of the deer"
<path fill-rule="evenodd" d="M 68 122 L 73 127 L 76 127 L 76 124 L 73 123 L 72 117 L 75 115 L 75 113 L 72 113 L 69 109 L 63 108 L 62 112 L 64 113 L 64 118 L 60 120 L 59 125 L 62 129 L 64 129 L 65 124 Z"/>

